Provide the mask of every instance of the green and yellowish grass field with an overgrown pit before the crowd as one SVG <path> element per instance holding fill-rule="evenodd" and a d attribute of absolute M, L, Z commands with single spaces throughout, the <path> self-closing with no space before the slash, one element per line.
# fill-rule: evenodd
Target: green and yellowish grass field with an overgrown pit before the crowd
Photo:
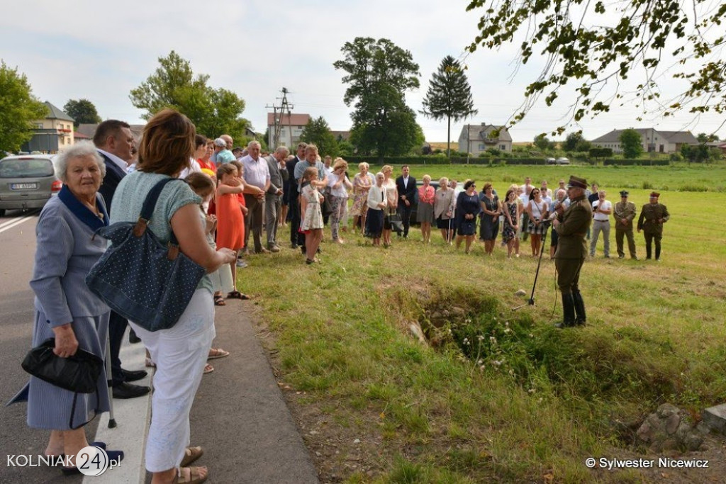
<path fill-rule="evenodd" d="M 552 187 L 576 174 L 597 180 L 613 202 L 630 189 L 639 213 L 659 189 L 671 213 L 663 262 L 604 259 L 600 242 L 581 277 L 588 325 L 560 331 L 546 258 L 535 305 L 513 311 L 526 303 L 515 292 L 529 297 L 537 266 L 528 245 L 519 259 L 498 245 L 489 258 L 481 245 L 465 255 L 439 234 L 423 245 L 412 229 L 388 249 L 352 234 L 346 245 L 325 242 L 320 265 L 289 248 L 251 256 L 240 289 L 258 296 L 322 480 L 653 479 L 582 463 L 640 455 L 633 429 L 660 403 L 697 420 L 726 398 L 726 168 L 412 166 L 418 179 L 424 173 L 492 181 L 499 192 L 526 174 Z M 636 243 L 644 256 L 642 235 Z"/>

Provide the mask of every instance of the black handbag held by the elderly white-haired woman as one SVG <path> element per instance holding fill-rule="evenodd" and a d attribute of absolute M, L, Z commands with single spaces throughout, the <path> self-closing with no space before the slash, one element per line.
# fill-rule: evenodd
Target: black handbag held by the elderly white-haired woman
<path fill-rule="evenodd" d="M 103 360 L 81 348 L 76 350 L 75 355 L 61 358 L 53 353 L 54 348 L 54 338 L 45 340 L 41 345 L 28 351 L 20 366 L 23 366 L 25 372 L 30 373 L 33 377 L 74 393 L 69 426 L 76 430 L 96 417 L 94 414 L 94 417 L 88 422 L 73 427 L 73 414 L 76 413 L 78 393 L 96 393 L 98 403 L 98 378 L 103 368 Z"/>

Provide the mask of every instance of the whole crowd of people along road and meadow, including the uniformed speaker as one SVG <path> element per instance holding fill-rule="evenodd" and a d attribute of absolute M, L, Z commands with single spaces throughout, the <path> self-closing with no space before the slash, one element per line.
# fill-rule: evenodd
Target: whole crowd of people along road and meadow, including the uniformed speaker
<path fill-rule="evenodd" d="M 150 387 L 131 383 L 145 377 L 144 370 L 121 367 L 119 348 L 130 324 L 129 339 L 144 344 L 147 366 L 155 366 L 145 459 L 152 483 L 203 482 L 208 469 L 189 467 L 203 454 L 202 448 L 189 445 L 189 411 L 202 375 L 213 371 L 208 360 L 229 355 L 212 347 L 214 306 L 248 299 L 238 290 L 237 271 L 246 266 L 246 255 L 279 253 L 282 227 L 289 227 L 290 247 L 301 249 L 307 264 L 321 260 L 326 225 L 337 244 L 344 244 L 344 234 L 350 231 L 363 234 L 375 247 L 391 247 L 393 231 L 408 239 L 411 222 L 416 221 L 425 245 L 432 243 L 436 225 L 442 244 L 460 250 L 463 243 L 465 253 L 470 253 L 478 236 L 486 255 L 494 253 L 501 234 L 507 258 L 519 257 L 528 238 L 531 255 L 541 256 L 549 231 L 550 258 L 558 264 L 563 292 L 561 327 L 584 324 L 577 280 L 585 237 L 590 236 L 591 256 L 602 237 L 609 257 L 613 216 L 619 257 L 624 258 L 627 237 L 629 254 L 636 258 L 632 229 L 637 210 L 628 201 L 628 192 L 620 192 L 621 202 L 613 206 L 597 184 L 588 190 L 587 183 L 576 177 L 567 186 L 560 180 L 554 191 L 546 181 L 535 186 L 528 177 L 523 185 L 508 186 L 500 199 L 491 183 L 478 191 L 470 179 L 432 181 L 424 174 L 418 184 L 407 165 L 395 176 L 391 165 L 370 173 L 367 163 L 359 163 L 358 173 L 351 177 L 346 160 L 321 157 L 314 144 L 300 143 L 294 154 L 287 147 L 262 153 L 258 141 L 233 147 L 231 136 L 206 138 L 184 115 L 163 110 L 149 120 L 138 142 L 127 123 L 107 120 L 98 126 L 93 144 L 78 143 L 57 157 L 63 187 L 42 210 L 36 229 L 30 282 L 36 293 L 33 345 L 54 337 L 57 356 L 72 356 L 78 348 L 103 356 L 108 339 L 113 385 L 109 394 L 102 372 L 97 393 L 74 396 L 30 378 L 25 388 L 28 425 L 50 431 L 46 455 L 74 456 L 87 446 L 83 425 L 91 413 L 109 409 L 110 397 L 149 393 Z M 93 237 L 94 231 L 109 223 L 136 221 L 152 186 L 170 177 L 187 183 L 166 184 L 149 227 L 162 243 L 173 232 L 181 252 L 205 268 L 207 275 L 174 327 L 150 332 L 110 311 L 89 291 L 84 278 L 106 248 L 100 237 Z M 656 192 L 650 194 L 636 224 L 645 233 L 648 258 L 655 242 L 656 260 L 661 256 L 663 223 L 669 219 L 658 197 Z M 554 230 L 548 230 L 550 226 Z M 105 448 L 105 443 L 97 445 Z M 123 458 L 122 451 L 107 452 Z M 62 471 L 71 474 L 78 469 Z"/>

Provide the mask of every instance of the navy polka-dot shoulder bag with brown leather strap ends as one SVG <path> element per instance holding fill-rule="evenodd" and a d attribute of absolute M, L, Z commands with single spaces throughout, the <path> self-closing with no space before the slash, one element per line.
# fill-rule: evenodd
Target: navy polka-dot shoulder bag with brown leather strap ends
<path fill-rule="evenodd" d="M 96 231 L 111 246 L 86 276 L 91 292 L 147 331 L 173 327 L 206 274 L 205 268 L 179 251 L 174 231 L 165 247 L 148 227 L 159 194 L 170 181 L 186 183 L 159 181 L 144 200 L 136 223 L 116 222 Z"/>

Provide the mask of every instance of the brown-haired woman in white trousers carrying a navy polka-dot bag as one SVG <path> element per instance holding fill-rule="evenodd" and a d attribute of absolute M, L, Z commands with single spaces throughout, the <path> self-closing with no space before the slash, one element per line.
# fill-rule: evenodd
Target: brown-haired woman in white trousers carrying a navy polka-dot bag
<path fill-rule="evenodd" d="M 135 222 L 147 194 L 159 181 L 176 178 L 189 165 L 195 148 L 195 126 L 175 110 L 154 115 L 144 127 L 137 171 L 124 177 L 116 189 L 111 221 Z M 179 250 L 206 269 L 216 271 L 234 262 L 234 251 L 213 250 L 205 239 L 199 216 L 200 197 L 183 181 L 164 186 L 148 227 L 163 244 L 171 232 Z M 143 284 L 143 281 L 139 282 Z M 146 468 L 152 483 L 202 482 L 206 467 L 180 467 L 201 455 L 189 448 L 189 411 L 202 377 L 214 332 L 213 285 L 203 276 L 184 313 L 173 327 L 155 332 L 129 321 L 156 364 L 152 419 L 146 445 Z"/>

